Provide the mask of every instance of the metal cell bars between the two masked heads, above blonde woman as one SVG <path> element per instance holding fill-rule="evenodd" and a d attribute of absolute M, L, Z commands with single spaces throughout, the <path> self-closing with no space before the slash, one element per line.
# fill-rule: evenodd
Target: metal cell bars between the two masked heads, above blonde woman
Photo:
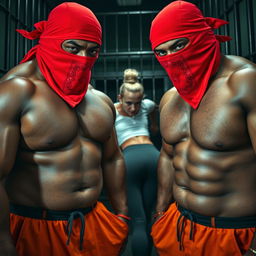
<path fill-rule="evenodd" d="M 155 59 L 149 42 L 149 29 L 156 13 L 134 11 L 96 14 L 102 23 L 104 39 L 99 60 L 93 68 L 92 83 L 113 101 L 117 99 L 126 68 L 135 68 L 140 72 L 140 81 L 151 99 L 159 102 L 164 93 L 166 74 Z"/>

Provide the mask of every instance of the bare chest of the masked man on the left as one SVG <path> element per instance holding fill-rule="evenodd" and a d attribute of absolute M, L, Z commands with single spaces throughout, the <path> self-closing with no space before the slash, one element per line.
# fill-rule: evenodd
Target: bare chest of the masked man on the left
<path fill-rule="evenodd" d="M 111 133 L 110 108 L 90 92 L 72 109 L 49 88 L 38 89 L 21 118 L 23 146 L 44 151 L 69 147 L 72 142 L 103 142 Z"/>

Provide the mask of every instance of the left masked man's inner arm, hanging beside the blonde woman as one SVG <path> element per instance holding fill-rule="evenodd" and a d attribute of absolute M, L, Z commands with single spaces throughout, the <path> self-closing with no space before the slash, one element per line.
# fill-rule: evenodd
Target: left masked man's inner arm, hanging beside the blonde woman
<path fill-rule="evenodd" d="M 111 205 L 116 214 L 127 215 L 125 164 L 120 148 L 117 145 L 114 129 L 104 145 L 103 153 L 104 185 Z"/>

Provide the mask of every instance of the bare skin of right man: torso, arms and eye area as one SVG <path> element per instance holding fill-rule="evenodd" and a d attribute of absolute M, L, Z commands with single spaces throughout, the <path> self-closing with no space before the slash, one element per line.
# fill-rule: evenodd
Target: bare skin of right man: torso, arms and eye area
<path fill-rule="evenodd" d="M 155 52 L 165 56 L 188 44 L 184 38 L 175 39 L 159 45 Z M 196 110 L 175 88 L 166 92 L 160 103 L 164 143 L 157 211 L 164 212 L 175 200 L 207 216 L 256 215 L 255 81 L 254 63 L 222 56 Z M 256 248 L 255 238 L 251 247 Z"/>

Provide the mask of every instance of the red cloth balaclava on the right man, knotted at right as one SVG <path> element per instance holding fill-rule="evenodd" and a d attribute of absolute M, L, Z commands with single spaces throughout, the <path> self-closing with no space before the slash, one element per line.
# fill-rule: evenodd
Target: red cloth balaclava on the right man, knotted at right
<path fill-rule="evenodd" d="M 203 17 L 192 3 L 174 1 L 152 21 L 150 41 L 158 45 L 177 38 L 188 38 L 182 50 L 156 58 L 166 70 L 180 96 L 196 109 L 204 96 L 209 79 L 217 72 L 221 53 L 219 42 L 231 40 L 214 35 L 213 29 L 227 24 L 220 19 Z"/>

